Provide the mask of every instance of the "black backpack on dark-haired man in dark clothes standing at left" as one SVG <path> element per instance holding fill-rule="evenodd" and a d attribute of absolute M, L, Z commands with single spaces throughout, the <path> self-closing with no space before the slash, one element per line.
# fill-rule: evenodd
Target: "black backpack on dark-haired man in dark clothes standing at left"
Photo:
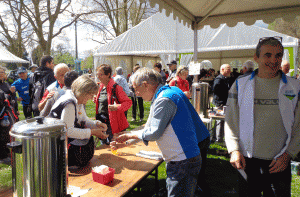
<path fill-rule="evenodd" d="M 49 73 L 46 71 L 38 71 L 35 72 L 32 76 L 33 85 L 31 89 L 32 95 L 30 95 L 30 97 L 33 111 L 39 110 L 38 105 L 40 103 L 40 100 L 43 98 L 45 89 L 47 88 L 45 87 L 45 84 L 48 75 Z"/>

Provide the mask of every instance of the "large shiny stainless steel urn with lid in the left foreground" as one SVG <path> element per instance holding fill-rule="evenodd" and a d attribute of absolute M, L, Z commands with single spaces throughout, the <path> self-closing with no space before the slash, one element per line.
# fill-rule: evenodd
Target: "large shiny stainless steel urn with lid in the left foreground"
<path fill-rule="evenodd" d="M 17 122 L 10 131 L 13 196 L 66 196 L 65 124 L 36 117 Z"/>

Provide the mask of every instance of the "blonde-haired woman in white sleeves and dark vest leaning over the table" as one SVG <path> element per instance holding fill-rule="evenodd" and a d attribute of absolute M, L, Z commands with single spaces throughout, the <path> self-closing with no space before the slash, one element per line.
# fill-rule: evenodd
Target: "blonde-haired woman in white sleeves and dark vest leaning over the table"
<path fill-rule="evenodd" d="M 93 136 L 101 139 L 108 137 L 103 133 L 107 126 L 98 120 L 89 119 L 84 109 L 97 89 L 97 84 L 89 76 L 78 77 L 71 90 L 66 90 L 51 109 L 50 117 L 63 120 L 67 126 L 69 166 L 86 166 L 94 155 Z"/>

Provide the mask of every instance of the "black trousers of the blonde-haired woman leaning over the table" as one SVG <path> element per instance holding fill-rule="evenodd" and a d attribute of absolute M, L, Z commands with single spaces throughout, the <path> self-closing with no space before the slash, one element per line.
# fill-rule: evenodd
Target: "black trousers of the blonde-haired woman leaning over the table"
<path fill-rule="evenodd" d="M 84 146 L 69 144 L 68 165 L 69 166 L 86 166 L 94 156 L 94 138 L 91 137 L 89 142 Z"/>

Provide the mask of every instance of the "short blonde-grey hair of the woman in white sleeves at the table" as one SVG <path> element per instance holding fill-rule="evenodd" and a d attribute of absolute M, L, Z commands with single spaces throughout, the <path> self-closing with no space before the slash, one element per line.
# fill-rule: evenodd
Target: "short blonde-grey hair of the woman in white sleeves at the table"
<path fill-rule="evenodd" d="M 71 89 L 75 97 L 78 98 L 89 94 L 97 94 L 98 85 L 89 75 L 82 75 L 72 83 Z"/>

